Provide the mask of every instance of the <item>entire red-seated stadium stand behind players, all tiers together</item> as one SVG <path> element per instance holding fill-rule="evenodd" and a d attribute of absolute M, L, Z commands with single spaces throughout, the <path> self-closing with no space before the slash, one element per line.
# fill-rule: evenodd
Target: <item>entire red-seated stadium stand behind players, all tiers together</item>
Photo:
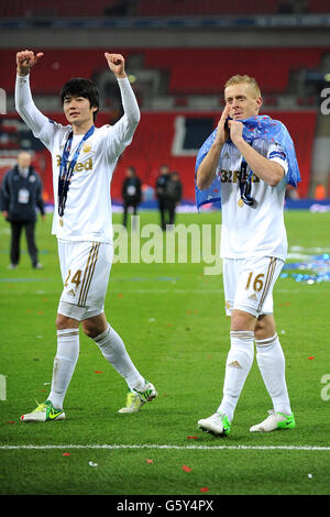
<path fill-rule="evenodd" d="M 136 16 L 138 22 L 146 18 L 163 18 L 168 19 L 170 25 L 172 16 L 182 20 L 189 16 L 191 20 L 239 16 L 244 21 L 244 16 L 250 20 L 257 15 L 276 18 L 277 14 L 297 12 L 312 15 L 329 13 L 330 4 L 324 0 L 0 0 L 0 22 L 1 19 L 12 20 L 14 24 L 14 20 L 21 19 L 19 23 L 26 23 L 26 28 L 32 28 L 31 31 L 34 31 L 34 25 L 38 26 L 40 21 L 41 26 L 44 21 L 47 26 L 48 22 L 61 19 L 70 19 L 74 29 L 77 21 L 92 18 L 101 21 L 116 16 L 120 20 L 131 16 L 134 20 Z M 65 122 L 58 99 L 63 84 L 73 75 L 90 77 L 98 84 L 101 96 L 102 114 L 99 114 L 97 123 L 101 125 L 116 122 L 121 114 L 121 106 L 116 97 L 116 81 L 105 66 L 102 47 L 86 45 L 72 48 L 67 45 L 59 50 L 54 43 L 54 46 L 48 44 L 46 48 L 34 47 L 35 52 L 40 50 L 44 52 L 42 66 L 33 70 L 31 82 L 36 105 L 43 112 Z M 314 143 L 319 125 L 319 91 L 323 85 L 322 74 L 329 63 L 329 45 L 317 46 L 308 44 L 306 40 L 301 47 L 274 44 L 246 48 L 232 43 L 226 47 L 217 45 L 200 48 L 184 44 L 164 47 L 160 33 L 157 46 L 127 44 L 124 48 L 112 51 L 124 54 L 142 110 L 141 123 L 133 142 L 121 156 L 113 177 L 111 190 L 114 200 L 120 200 L 120 187 L 127 166 L 133 165 L 144 184 L 153 187 L 162 163 L 167 163 L 172 169 L 179 172 L 184 183 L 184 197 L 186 200 L 194 200 L 195 157 L 198 146 L 208 134 L 197 134 L 195 122 L 209 120 L 210 130 L 216 127 L 223 107 L 224 81 L 237 73 L 246 73 L 258 80 L 264 97 L 262 112 L 282 120 L 288 127 L 296 144 L 302 176 L 299 197 L 309 195 Z M 12 70 L 2 74 L 0 85 L 7 91 L 9 106 L 9 113 L 0 119 L 0 178 L 19 148 L 32 148 L 43 175 L 45 197 L 52 201 L 48 154 L 31 132 L 26 131 L 25 124 L 19 120 L 13 109 L 15 52 L 16 48 L 8 45 L 0 47 L 2 70 Z M 197 63 L 202 63 L 202 73 L 197 68 Z M 193 123 L 189 124 L 189 121 Z M 195 147 L 190 144 L 189 147 L 183 134 L 178 134 L 178 128 L 180 131 L 184 128 L 184 136 L 187 133 L 187 140 L 190 139 L 190 144 L 193 140 Z"/>

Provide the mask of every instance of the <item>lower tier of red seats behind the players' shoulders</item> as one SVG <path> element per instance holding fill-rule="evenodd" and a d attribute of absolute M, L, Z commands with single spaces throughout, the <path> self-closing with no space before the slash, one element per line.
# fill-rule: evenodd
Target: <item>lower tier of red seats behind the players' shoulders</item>
<path fill-rule="evenodd" d="M 65 120 L 62 114 L 47 113 L 51 118 L 56 119 L 59 122 L 65 123 Z M 217 114 L 213 114 L 213 127 L 217 123 Z M 279 119 L 287 125 L 289 129 L 293 139 L 296 145 L 297 158 L 302 176 L 302 182 L 299 186 L 300 197 L 306 197 L 309 188 L 310 179 L 310 161 L 312 153 L 312 141 L 316 129 L 316 112 L 315 111 L 305 111 L 305 112 L 268 112 L 272 118 Z M 130 165 L 133 165 L 139 172 L 140 177 L 142 178 L 145 185 L 154 187 L 156 175 L 160 169 L 160 166 L 163 163 L 167 163 L 172 170 L 178 170 L 184 183 L 185 189 L 185 199 L 194 200 L 195 190 L 194 190 L 194 169 L 195 169 L 195 155 L 185 155 L 185 150 L 182 148 L 182 154 L 173 154 L 173 142 L 175 139 L 176 132 L 176 119 L 178 117 L 184 118 L 202 118 L 210 117 L 208 112 L 144 112 L 141 119 L 141 122 L 136 129 L 135 136 L 132 144 L 125 150 L 121 156 L 116 174 L 113 176 L 111 194 L 114 200 L 120 200 L 121 198 L 121 184 L 124 177 L 125 168 Z M 102 125 L 109 123 L 109 117 L 106 114 L 99 114 L 97 119 L 97 124 Z M 301 131 L 301 124 L 304 131 Z M 11 156 L 15 155 L 15 150 L 22 147 L 22 141 L 25 140 L 25 145 L 28 147 L 33 147 L 35 152 L 35 163 L 37 164 L 41 172 L 44 172 L 43 182 L 45 188 L 45 197 L 48 201 L 53 200 L 52 193 L 52 175 L 51 175 L 51 160 L 50 154 L 44 151 L 35 141 L 35 139 L 29 139 L 26 135 L 26 130 L 23 131 L 23 124 L 18 122 L 16 118 L 7 118 L 2 121 L 1 132 L 11 133 L 14 135 L 14 140 L 11 142 L 7 141 L 4 147 L 7 153 L 2 155 L 2 165 L 0 167 L 0 176 L 8 168 Z M 21 131 L 20 138 L 16 138 L 16 131 Z M 1 133 L 0 133 L 1 136 Z M 200 142 L 202 143 L 202 142 Z M 3 148 L 3 145 L 0 148 Z M 11 151 L 11 152 L 10 152 Z M 196 150 L 197 154 L 197 150 Z M 7 158 L 4 161 L 4 157 Z"/>

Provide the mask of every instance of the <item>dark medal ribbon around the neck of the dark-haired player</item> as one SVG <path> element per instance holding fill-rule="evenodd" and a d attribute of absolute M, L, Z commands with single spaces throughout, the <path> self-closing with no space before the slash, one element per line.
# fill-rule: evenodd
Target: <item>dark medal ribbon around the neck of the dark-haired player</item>
<path fill-rule="evenodd" d="M 59 217 L 63 217 L 63 215 L 64 215 L 64 209 L 65 209 L 65 205 L 66 205 L 66 198 L 67 198 L 67 193 L 68 193 L 68 189 L 69 189 L 69 184 L 70 184 L 70 180 L 72 180 L 72 177 L 73 177 L 73 174 L 74 174 L 74 168 L 76 166 L 76 163 L 77 163 L 78 156 L 80 154 L 82 144 L 84 144 L 84 142 L 86 142 L 87 139 L 89 139 L 89 136 L 92 135 L 94 132 L 95 132 L 95 125 L 91 125 L 91 128 L 89 128 L 87 133 L 81 139 L 81 141 L 80 141 L 80 143 L 79 143 L 79 145 L 78 145 L 78 147 L 75 152 L 75 155 L 74 155 L 74 157 L 70 162 L 68 161 L 68 157 L 69 157 L 69 154 L 70 154 L 73 138 L 74 138 L 73 131 L 68 135 L 68 139 L 65 143 L 63 155 L 62 155 L 62 158 L 61 158 L 59 174 L 58 174 L 58 216 Z"/>

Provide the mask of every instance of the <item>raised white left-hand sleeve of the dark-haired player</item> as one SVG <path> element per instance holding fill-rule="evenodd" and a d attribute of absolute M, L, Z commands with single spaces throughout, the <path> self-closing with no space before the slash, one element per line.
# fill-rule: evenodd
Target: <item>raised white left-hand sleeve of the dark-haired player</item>
<path fill-rule="evenodd" d="M 51 151 L 56 122 L 45 117 L 34 105 L 30 89 L 30 76 L 16 76 L 15 109 L 34 136 Z"/>

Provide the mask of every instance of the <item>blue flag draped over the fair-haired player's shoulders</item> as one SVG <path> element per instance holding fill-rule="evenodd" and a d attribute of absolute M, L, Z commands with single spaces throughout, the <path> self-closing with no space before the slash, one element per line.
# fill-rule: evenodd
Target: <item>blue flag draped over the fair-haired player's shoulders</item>
<path fill-rule="evenodd" d="M 295 145 L 286 127 L 279 120 L 273 120 L 268 116 L 251 117 L 250 119 L 240 120 L 240 122 L 244 125 L 243 139 L 246 142 L 252 143 L 256 139 L 263 139 L 282 145 L 288 162 L 287 183 L 296 188 L 297 184 L 300 182 L 300 173 Z M 200 190 L 196 185 L 197 169 L 208 154 L 212 143 L 215 142 L 216 135 L 217 129 L 204 142 L 196 158 L 195 195 L 198 209 L 202 205 L 221 201 L 221 177 L 218 172 L 209 188 Z M 230 141 L 228 142 L 230 143 Z"/>

